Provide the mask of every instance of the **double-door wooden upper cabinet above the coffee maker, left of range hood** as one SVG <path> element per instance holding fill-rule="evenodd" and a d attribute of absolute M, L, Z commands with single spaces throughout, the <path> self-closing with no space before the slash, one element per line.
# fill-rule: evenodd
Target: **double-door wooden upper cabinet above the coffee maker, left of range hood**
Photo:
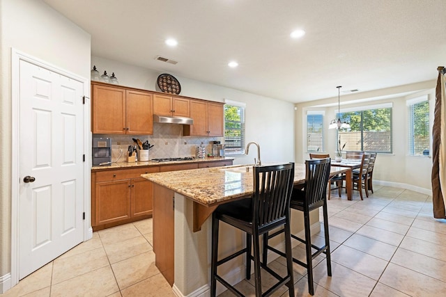
<path fill-rule="evenodd" d="M 92 85 L 93 134 L 153 134 L 152 93 Z"/>

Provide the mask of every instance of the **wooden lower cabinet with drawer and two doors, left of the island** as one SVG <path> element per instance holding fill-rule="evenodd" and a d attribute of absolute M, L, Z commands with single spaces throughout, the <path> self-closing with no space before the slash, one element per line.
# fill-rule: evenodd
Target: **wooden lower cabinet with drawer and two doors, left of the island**
<path fill-rule="evenodd" d="M 153 184 L 141 177 L 159 167 L 91 172 L 91 225 L 101 230 L 153 214 Z"/>

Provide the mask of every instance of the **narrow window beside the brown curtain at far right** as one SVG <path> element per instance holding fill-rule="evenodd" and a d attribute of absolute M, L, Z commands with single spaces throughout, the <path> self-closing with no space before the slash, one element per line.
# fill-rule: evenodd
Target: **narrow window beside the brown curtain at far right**
<path fill-rule="evenodd" d="M 429 101 L 427 95 L 406 102 L 409 118 L 409 155 L 429 156 Z"/>

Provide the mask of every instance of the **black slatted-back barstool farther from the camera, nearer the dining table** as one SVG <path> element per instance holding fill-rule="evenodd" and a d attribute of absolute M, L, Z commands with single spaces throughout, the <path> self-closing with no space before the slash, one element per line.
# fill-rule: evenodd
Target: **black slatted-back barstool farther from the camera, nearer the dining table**
<path fill-rule="evenodd" d="M 293 239 L 305 243 L 305 253 L 307 256 L 307 263 L 304 263 L 298 259 L 293 258 L 293 262 L 300 264 L 307 268 L 308 278 L 308 292 L 314 295 L 313 284 L 313 263 L 312 260 L 323 252 L 327 259 L 327 273 L 332 275 L 332 266 L 330 258 L 330 236 L 328 235 L 328 210 L 327 210 L 327 183 L 330 177 L 330 158 L 326 159 L 313 159 L 305 161 L 305 186 L 302 190 L 294 189 L 291 195 L 290 207 L 297 209 L 304 213 L 304 227 L 305 227 L 305 240 L 300 239 L 298 236 L 291 234 Z M 312 244 L 312 234 L 310 232 L 309 212 L 322 207 L 323 209 L 323 229 L 325 235 L 325 245 L 315 246 Z M 268 246 L 268 239 L 271 239 L 278 234 L 281 234 L 284 230 L 279 230 L 272 234 L 263 234 L 263 262 L 268 259 L 268 250 L 272 250 L 279 255 L 285 256 L 284 252 Z M 285 236 L 288 236 L 285 234 Z M 316 252 L 312 252 L 312 248 Z"/>

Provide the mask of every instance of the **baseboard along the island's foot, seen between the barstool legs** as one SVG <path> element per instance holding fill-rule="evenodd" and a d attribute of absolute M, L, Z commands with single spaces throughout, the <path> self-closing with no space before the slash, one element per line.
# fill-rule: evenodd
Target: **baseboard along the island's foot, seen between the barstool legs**
<path fill-rule="evenodd" d="M 312 234 L 320 232 L 321 231 L 320 222 L 312 224 L 310 229 Z M 298 232 L 298 234 L 295 235 L 303 238 L 305 236 L 305 230 L 302 230 L 301 232 Z M 292 240 L 291 248 L 295 248 L 296 246 L 299 245 L 299 243 L 300 243 L 299 241 Z M 280 243 L 277 246 L 275 246 L 275 248 L 277 248 L 278 250 L 284 250 L 285 243 Z M 278 257 L 280 256 L 277 255 L 275 252 L 272 252 L 270 250 L 268 251 L 268 263 L 274 261 Z M 251 271 L 254 272 L 254 267 L 251 268 Z M 246 278 L 245 272 L 246 272 L 245 265 L 237 266 L 228 273 L 226 273 L 225 275 L 222 275 L 222 278 L 224 278 L 224 280 L 226 280 L 226 282 L 229 282 L 229 284 L 231 285 L 238 284 L 239 282 L 241 282 Z M 205 284 L 204 286 L 199 287 L 198 289 L 196 289 L 195 291 L 193 291 L 191 294 L 188 295 L 183 295 L 183 293 L 181 293 L 181 291 L 178 289 L 178 287 L 176 287 L 175 284 L 172 286 L 172 291 L 174 291 L 174 294 L 177 297 L 208 297 L 210 296 L 210 284 Z M 222 294 L 224 291 L 226 291 L 226 287 L 220 284 L 220 282 L 217 282 L 217 295 Z"/>

